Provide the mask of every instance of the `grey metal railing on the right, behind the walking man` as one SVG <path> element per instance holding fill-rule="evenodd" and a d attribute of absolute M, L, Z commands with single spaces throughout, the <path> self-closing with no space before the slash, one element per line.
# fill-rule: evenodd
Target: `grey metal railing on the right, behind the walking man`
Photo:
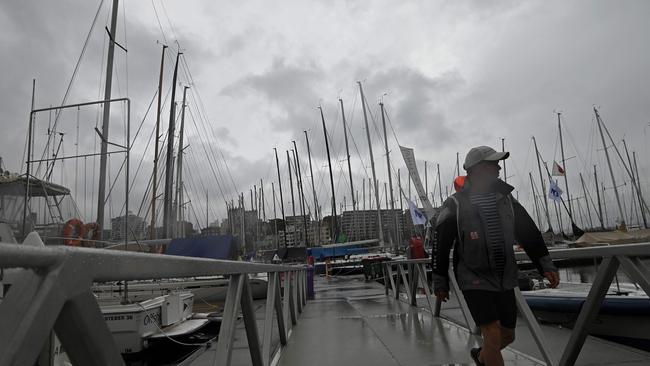
<path fill-rule="evenodd" d="M 591 284 L 589 294 L 580 309 L 580 313 L 578 314 L 573 330 L 571 331 L 569 341 L 567 342 L 558 362 L 555 362 L 551 357 L 551 354 L 557 354 L 557 352 L 551 352 L 546 345 L 544 335 L 537 319 L 526 303 L 526 299 L 519 288 L 515 288 L 517 307 L 526 325 L 530 329 L 533 339 L 535 340 L 546 364 L 559 366 L 573 365 L 575 364 L 587 335 L 589 334 L 589 326 L 596 319 L 600 306 L 605 299 L 605 295 L 607 295 L 608 289 L 612 285 L 612 281 L 614 280 L 616 271 L 619 267 L 650 297 L 650 270 L 646 268 L 640 259 L 650 257 L 650 243 L 555 249 L 550 250 L 549 252 L 553 259 L 602 258 L 594 281 Z M 528 260 L 528 256 L 523 252 L 515 253 L 515 257 L 517 260 Z M 430 263 L 430 259 L 383 262 L 384 285 L 386 288 L 386 295 L 390 295 L 390 292 L 392 291 L 392 295 L 396 299 L 399 299 L 401 281 L 406 290 L 407 299 L 413 306 L 417 306 L 416 294 L 418 289 L 422 288 L 426 295 L 429 310 L 432 314 L 439 317 L 441 302 L 437 299 L 435 299 L 435 301 L 432 299 L 430 285 L 426 277 L 426 267 L 430 265 Z M 451 283 L 451 290 L 456 295 L 460 304 L 460 309 L 467 325 L 467 329 L 469 329 L 473 334 L 478 334 L 479 330 L 472 320 L 467 303 L 460 292 L 456 277 L 451 268 L 449 269 L 449 280 Z"/>

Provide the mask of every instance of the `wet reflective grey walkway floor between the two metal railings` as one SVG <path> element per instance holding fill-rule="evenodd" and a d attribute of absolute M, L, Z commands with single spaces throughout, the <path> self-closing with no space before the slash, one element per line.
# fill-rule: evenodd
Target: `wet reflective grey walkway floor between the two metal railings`
<path fill-rule="evenodd" d="M 473 365 L 477 338 L 363 278 L 319 278 L 278 365 Z M 504 351 L 508 364 L 536 365 Z"/>

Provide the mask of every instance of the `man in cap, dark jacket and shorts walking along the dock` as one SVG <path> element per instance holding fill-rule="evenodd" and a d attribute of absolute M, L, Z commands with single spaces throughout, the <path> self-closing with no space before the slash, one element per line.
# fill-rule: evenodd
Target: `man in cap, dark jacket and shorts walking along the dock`
<path fill-rule="evenodd" d="M 503 365 L 501 350 L 515 339 L 518 268 L 513 246 L 523 247 L 550 287 L 560 281 L 535 222 L 510 194 L 514 188 L 499 179 L 499 161 L 509 155 L 488 146 L 472 148 L 463 164 L 463 187 L 444 202 L 433 225 L 434 294 L 441 301 L 449 298 L 454 246 L 454 273 L 483 335 L 482 347 L 470 351 L 477 365 Z"/>

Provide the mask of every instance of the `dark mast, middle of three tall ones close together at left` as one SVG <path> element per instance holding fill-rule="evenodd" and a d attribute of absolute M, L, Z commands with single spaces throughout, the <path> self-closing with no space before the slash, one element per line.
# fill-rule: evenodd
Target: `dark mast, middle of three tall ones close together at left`
<path fill-rule="evenodd" d="M 169 106 L 169 129 L 167 131 L 167 162 L 165 168 L 165 201 L 163 215 L 163 230 L 165 238 L 171 237 L 172 227 L 172 191 L 174 186 L 173 164 L 174 164 L 174 130 L 176 128 L 176 80 L 178 78 L 178 60 L 182 52 L 176 54 L 176 65 L 174 66 L 174 77 L 172 78 L 172 96 Z"/>

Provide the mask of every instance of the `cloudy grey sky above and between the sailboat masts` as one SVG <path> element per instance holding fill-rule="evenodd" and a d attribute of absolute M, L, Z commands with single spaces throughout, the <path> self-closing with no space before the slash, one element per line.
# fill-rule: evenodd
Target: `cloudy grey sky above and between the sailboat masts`
<path fill-rule="evenodd" d="M 111 2 L 105 0 L 99 9 L 68 103 L 102 97 L 104 27 L 109 25 Z M 24 170 L 32 79 L 37 107 L 61 103 L 99 6 L 100 1 L 71 0 L 0 4 L 0 125 L 5 131 L 0 155 L 10 170 Z M 572 195 L 582 196 L 579 172 L 593 187 L 594 164 L 605 186 L 611 187 L 593 116 L 598 106 L 617 144 L 625 138 L 637 152 L 647 189 L 647 14 L 646 1 L 122 1 L 116 40 L 128 52 L 116 50 L 113 96 L 133 101 L 132 210 L 140 209 L 152 170 L 155 104 L 148 114 L 147 108 L 156 91 L 162 43 L 170 46 L 164 69 L 164 129 L 179 47 L 184 52 L 179 85 L 191 86 L 185 136 L 191 221 L 204 223 L 206 189 L 213 221 L 225 216 L 223 202 L 236 200 L 236 192 L 244 192 L 248 204 L 249 189 L 260 179 L 270 216 L 270 183 L 277 181 L 274 147 L 280 152 L 285 208 L 290 212 L 285 151 L 296 140 L 303 178 L 309 182 L 304 130 L 310 138 L 316 190 L 320 201 L 327 202 L 330 188 L 318 105 L 331 135 L 336 196 L 339 201 L 346 196 L 350 207 L 338 98 L 345 103 L 354 183 L 360 191 L 361 180 L 370 176 L 370 163 L 358 80 L 373 117 L 370 130 L 381 182 L 387 181 L 378 133 L 378 102 L 383 99 L 389 131 L 395 132 L 388 138 L 391 161 L 402 170 L 403 179 L 397 141 L 415 149 L 421 174 L 424 160 L 429 167 L 439 163 L 443 185 L 448 186 L 457 152 L 462 164 L 470 147 L 500 147 L 505 138 L 512 152 L 508 181 L 532 211 L 528 172 L 535 172 L 536 166 L 531 136 L 538 139 L 545 160 L 559 161 L 554 112 L 561 111 L 566 155 L 575 157 L 567 161 Z M 177 101 L 181 95 L 179 89 Z M 120 106 L 115 110 L 111 138 L 124 141 L 124 111 Z M 97 115 L 97 109 L 87 108 L 60 116 L 57 131 L 65 133 L 62 146 L 67 155 L 77 148 L 80 153 L 96 149 Z M 47 114 L 37 117 L 36 155 L 42 154 L 53 119 Z M 111 159 L 109 175 L 116 179 L 120 158 Z M 623 180 L 620 164 L 615 165 Z M 94 219 L 93 166 L 96 170 L 98 164 L 88 159 L 68 161 L 53 174 L 73 188 L 85 221 Z M 430 190 L 434 173 L 430 168 Z M 115 186 L 112 216 L 123 201 L 123 187 Z M 629 213 L 629 183 L 622 189 Z M 614 216 L 611 189 L 607 195 Z"/>

